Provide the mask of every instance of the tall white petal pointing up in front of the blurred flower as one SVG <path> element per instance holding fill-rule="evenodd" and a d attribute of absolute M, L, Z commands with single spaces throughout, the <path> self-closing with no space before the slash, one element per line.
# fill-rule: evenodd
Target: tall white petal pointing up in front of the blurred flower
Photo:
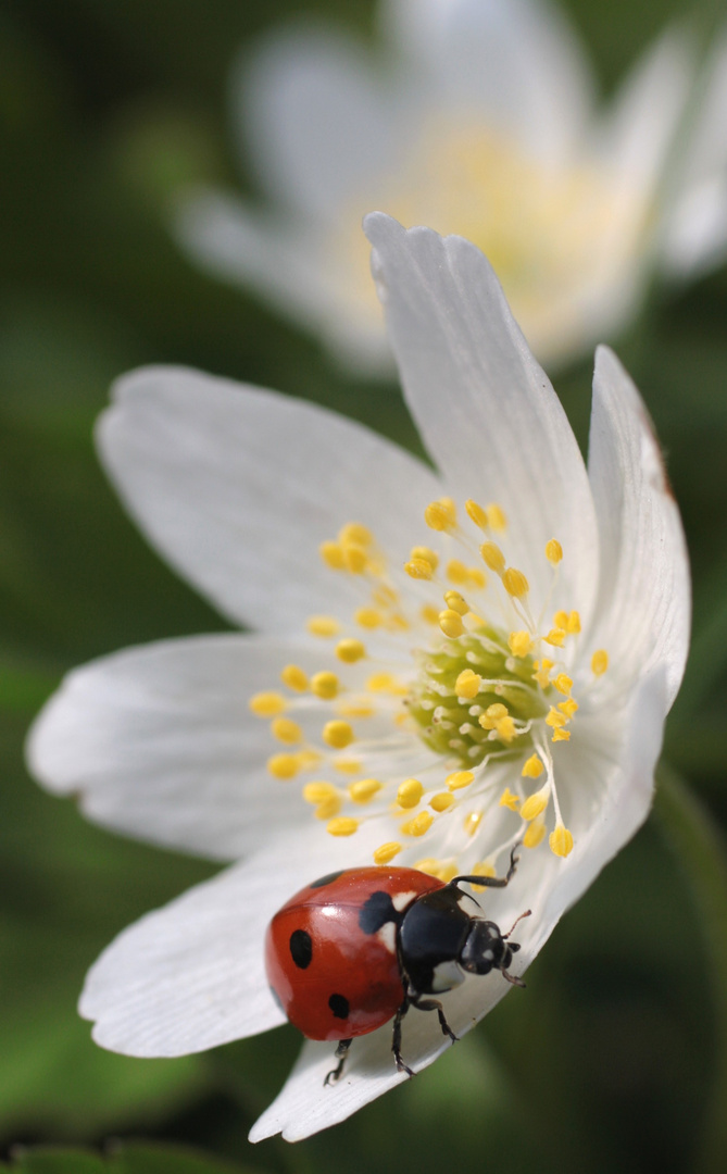
<path fill-rule="evenodd" d="M 467 241 L 366 217 L 373 272 L 406 399 L 458 499 L 503 506 L 506 556 L 544 600 L 545 544 L 590 614 L 598 575 L 591 490 L 575 438 L 530 353 L 491 265 Z M 564 588 L 565 589 L 565 588 Z"/>

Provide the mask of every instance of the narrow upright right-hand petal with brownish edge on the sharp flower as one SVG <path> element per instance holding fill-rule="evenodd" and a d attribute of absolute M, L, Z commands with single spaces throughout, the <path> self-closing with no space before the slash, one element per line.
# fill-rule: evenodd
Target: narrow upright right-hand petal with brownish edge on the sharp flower
<path fill-rule="evenodd" d="M 601 540 L 593 640 L 608 653 L 615 679 L 664 663 L 671 704 L 689 641 L 684 531 L 646 407 L 605 346 L 597 352 L 588 471 Z"/>

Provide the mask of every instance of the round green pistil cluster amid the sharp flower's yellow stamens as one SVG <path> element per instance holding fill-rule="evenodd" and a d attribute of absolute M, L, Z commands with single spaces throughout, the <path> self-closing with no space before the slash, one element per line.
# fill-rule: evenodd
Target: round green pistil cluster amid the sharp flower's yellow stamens
<path fill-rule="evenodd" d="M 533 680 L 532 656 L 514 657 L 503 632 L 482 627 L 476 634 L 445 640 L 418 659 L 419 674 L 408 708 L 422 740 L 432 750 L 457 758 L 463 767 L 476 767 L 493 750 L 520 754 L 532 745 L 530 733 L 512 742 L 490 737 L 491 731 L 483 729 L 477 718 L 479 711 L 484 714 L 493 704 L 505 706 L 514 721 L 523 722 L 544 717 L 548 709 L 546 694 L 551 689 L 544 693 Z M 483 683 L 476 697 L 460 701 L 455 686 L 465 669 L 479 674 Z M 474 715 L 470 713 L 473 706 Z"/>

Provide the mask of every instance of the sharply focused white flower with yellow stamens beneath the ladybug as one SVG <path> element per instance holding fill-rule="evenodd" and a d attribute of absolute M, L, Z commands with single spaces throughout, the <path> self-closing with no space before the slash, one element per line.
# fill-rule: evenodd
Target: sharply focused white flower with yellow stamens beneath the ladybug
<path fill-rule="evenodd" d="M 366 231 L 436 472 L 331 412 L 186 370 L 126 377 L 101 421 L 152 541 L 257 629 L 80 668 L 32 734 L 38 777 L 89 817 L 237 862 L 92 969 L 81 1013 L 132 1055 L 281 1023 L 265 926 L 344 865 L 500 872 L 523 841 L 484 899 L 500 925 L 532 909 L 524 970 L 651 804 L 689 586 L 638 392 L 599 350 L 586 473 L 483 255 L 381 212 Z M 506 990 L 493 974 L 447 994 L 455 1031 Z M 305 1136 L 390 1088 L 390 1045 L 389 1026 L 356 1039 L 324 1089 L 331 1046 L 305 1043 L 254 1140 Z M 435 1016 L 409 1016 L 408 1064 L 445 1046 Z"/>

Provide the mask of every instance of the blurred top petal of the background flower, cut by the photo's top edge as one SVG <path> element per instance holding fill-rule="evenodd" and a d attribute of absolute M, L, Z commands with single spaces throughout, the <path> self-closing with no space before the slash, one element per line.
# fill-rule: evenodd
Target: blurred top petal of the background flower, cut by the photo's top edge
<path fill-rule="evenodd" d="M 567 157 L 592 83 L 573 29 L 546 0 L 388 0 L 385 34 L 435 81 L 436 101 L 514 133 L 538 156 Z"/>

